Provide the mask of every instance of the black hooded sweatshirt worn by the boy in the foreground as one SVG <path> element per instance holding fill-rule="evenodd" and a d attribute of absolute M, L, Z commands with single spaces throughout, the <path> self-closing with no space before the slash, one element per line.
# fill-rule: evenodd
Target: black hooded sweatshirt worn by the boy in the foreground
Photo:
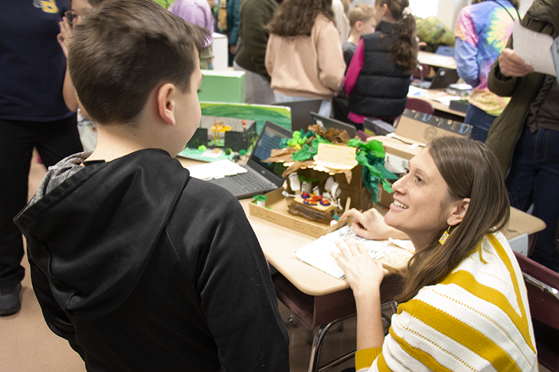
<path fill-rule="evenodd" d="M 163 150 L 87 156 L 50 168 L 15 218 L 45 320 L 87 370 L 289 371 L 268 267 L 233 195 Z"/>

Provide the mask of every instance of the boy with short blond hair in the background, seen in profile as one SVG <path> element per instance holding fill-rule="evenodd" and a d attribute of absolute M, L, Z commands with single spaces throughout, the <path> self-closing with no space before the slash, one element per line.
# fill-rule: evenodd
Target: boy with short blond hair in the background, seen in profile
<path fill-rule="evenodd" d="M 369 4 L 358 4 L 349 12 L 348 17 L 351 31 L 349 31 L 349 38 L 342 45 L 346 71 L 351 63 L 351 58 L 354 57 L 361 36 L 375 32 L 377 22 L 373 15 L 375 15 L 375 7 Z"/>

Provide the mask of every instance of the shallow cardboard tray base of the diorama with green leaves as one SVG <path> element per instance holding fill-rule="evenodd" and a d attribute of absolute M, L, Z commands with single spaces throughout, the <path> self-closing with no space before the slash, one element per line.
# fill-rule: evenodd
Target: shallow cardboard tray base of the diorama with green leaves
<path fill-rule="evenodd" d="M 277 223 L 291 230 L 302 232 L 305 235 L 319 238 L 329 232 L 333 232 L 341 228 L 347 222 L 347 219 L 337 221 L 333 226 L 325 225 L 307 220 L 300 216 L 295 216 L 287 211 L 292 198 L 285 198 L 282 195 L 283 188 L 266 194 L 266 207 L 259 207 L 254 202 L 249 203 L 249 213 L 251 216 L 262 218 L 266 221 Z"/>

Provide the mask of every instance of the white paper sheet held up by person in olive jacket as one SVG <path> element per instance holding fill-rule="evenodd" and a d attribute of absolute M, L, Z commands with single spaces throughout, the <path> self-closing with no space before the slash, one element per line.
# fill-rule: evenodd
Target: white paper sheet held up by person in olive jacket
<path fill-rule="evenodd" d="M 529 30 L 518 22 L 513 24 L 512 36 L 514 52 L 525 64 L 532 66 L 537 73 L 557 76 L 550 52 L 553 43 L 551 36 Z"/>

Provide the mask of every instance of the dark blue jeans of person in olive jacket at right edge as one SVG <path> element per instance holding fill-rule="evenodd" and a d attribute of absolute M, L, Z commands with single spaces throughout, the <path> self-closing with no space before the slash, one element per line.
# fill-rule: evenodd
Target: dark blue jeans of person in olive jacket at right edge
<path fill-rule="evenodd" d="M 530 258 L 559 271 L 559 254 L 553 241 L 559 220 L 559 131 L 539 128 L 531 133 L 525 126 L 505 181 L 511 206 L 527 211 L 533 203 L 532 215 L 546 223 Z"/>

